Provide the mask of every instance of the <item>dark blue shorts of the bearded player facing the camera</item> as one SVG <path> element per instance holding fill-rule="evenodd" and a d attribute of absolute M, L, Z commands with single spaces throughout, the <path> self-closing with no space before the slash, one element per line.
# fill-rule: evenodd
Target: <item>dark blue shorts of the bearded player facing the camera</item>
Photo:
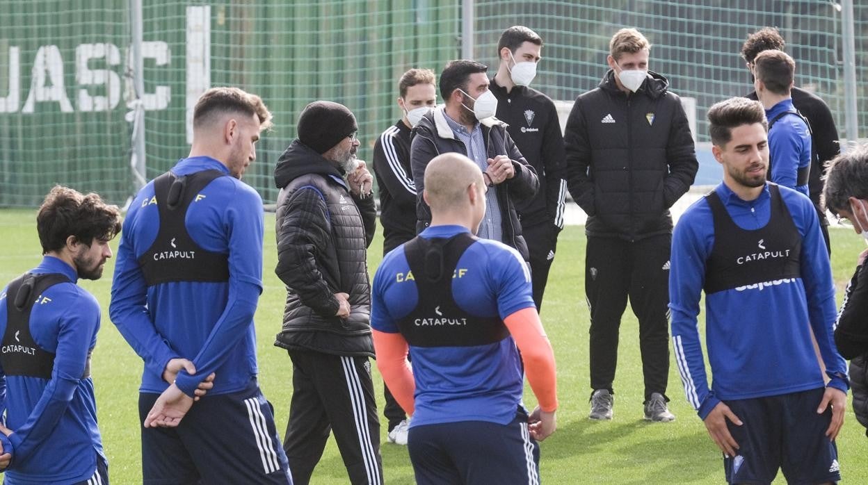
<path fill-rule="evenodd" d="M 725 401 L 741 426 L 727 421 L 738 455 L 724 456 L 729 483 L 771 483 L 778 469 L 790 484 L 838 482 L 838 449 L 825 430 L 832 409 L 817 414 L 825 389 Z"/>

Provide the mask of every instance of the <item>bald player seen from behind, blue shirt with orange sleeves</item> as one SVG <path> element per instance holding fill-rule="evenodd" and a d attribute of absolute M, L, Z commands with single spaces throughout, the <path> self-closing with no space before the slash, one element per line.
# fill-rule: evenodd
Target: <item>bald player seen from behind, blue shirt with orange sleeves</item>
<path fill-rule="evenodd" d="M 536 441 L 556 429 L 556 369 L 528 267 L 472 235 L 488 190 L 474 161 L 438 155 L 424 179 L 431 226 L 386 255 L 371 318 L 380 372 L 413 416 L 416 482 L 538 483 Z M 523 371 L 540 403 L 532 413 Z"/>

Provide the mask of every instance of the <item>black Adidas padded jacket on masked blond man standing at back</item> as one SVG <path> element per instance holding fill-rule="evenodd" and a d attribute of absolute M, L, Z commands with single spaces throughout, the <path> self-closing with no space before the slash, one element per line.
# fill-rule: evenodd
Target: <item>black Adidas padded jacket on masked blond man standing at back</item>
<path fill-rule="evenodd" d="M 648 74 L 628 96 L 610 69 L 569 114 L 567 185 L 589 216 L 589 236 L 671 233 L 669 207 L 694 183 L 699 163 L 681 100 L 665 77 Z"/>

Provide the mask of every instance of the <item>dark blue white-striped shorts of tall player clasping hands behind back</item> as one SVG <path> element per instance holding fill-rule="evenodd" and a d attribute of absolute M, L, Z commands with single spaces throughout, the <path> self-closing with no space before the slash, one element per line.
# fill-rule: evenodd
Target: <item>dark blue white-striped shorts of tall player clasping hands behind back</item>
<path fill-rule="evenodd" d="M 157 394 L 139 395 L 140 423 Z M 271 403 L 256 381 L 231 394 L 202 397 L 177 428 L 141 427 L 143 482 L 292 484 Z"/>

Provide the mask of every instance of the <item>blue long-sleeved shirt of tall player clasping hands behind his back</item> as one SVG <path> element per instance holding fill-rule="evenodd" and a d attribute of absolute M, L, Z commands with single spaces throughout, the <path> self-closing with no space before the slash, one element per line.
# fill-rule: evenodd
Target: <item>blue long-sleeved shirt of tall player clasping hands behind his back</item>
<path fill-rule="evenodd" d="M 181 160 L 172 172 L 181 176 L 208 169 L 229 173 L 209 157 Z M 176 379 L 188 396 L 212 372 L 216 378 L 209 396 L 243 390 L 257 373 L 253 313 L 262 292 L 262 199 L 240 180 L 218 177 L 190 204 L 185 225 L 202 249 L 228 254 L 229 280 L 147 285 L 138 258 L 160 229 L 151 181 L 136 195 L 123 222 L 109 314 L 144 360 L 141 392 L 168 387 L 162 372 L 174 357 L 196 366 L 194 376 L 181 370 Z"/>

